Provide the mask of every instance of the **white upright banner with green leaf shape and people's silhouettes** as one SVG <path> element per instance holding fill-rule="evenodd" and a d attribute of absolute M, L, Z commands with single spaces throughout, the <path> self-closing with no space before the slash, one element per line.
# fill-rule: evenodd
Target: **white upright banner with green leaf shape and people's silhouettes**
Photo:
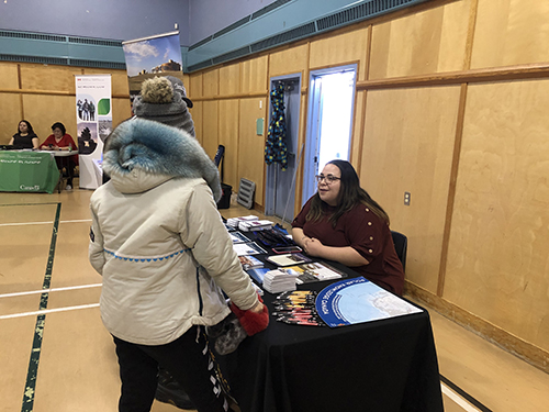
<path fill-rule="evenodd" d="M 97 189 L 103 181 L 103 142 L 112 131 L 111 75 L 75 78 L 80 188 Z"/>

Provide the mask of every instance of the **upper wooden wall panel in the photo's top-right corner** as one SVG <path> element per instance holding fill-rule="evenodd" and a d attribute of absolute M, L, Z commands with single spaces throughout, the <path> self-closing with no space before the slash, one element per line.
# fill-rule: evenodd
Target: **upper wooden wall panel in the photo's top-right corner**
<path fill-rule="evenodd" d="M 549 2 L 479 1 L 471 68 L 549 60 Z"/>

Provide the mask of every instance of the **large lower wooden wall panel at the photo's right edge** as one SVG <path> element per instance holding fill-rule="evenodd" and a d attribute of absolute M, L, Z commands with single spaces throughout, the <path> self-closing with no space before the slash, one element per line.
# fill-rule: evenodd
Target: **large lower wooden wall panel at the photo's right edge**
<path fill-rule="evenodd" d="M 470 86 L 444 298 L 549 350 L 549 80 Z"/>

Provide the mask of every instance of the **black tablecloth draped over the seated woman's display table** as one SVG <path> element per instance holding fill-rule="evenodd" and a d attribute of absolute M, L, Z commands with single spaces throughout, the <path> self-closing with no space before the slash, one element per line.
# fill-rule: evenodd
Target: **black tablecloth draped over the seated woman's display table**
<path fill-rule="evenodd" d="M 320 291 L 332 282 L 298 289 Z M 274 299 L 265 292 L 271 313 Z M 444 411 L 425 310 L 335 329 L 289 325 L 271 316 L 266 331 L 222 358 L 243 412 Z"/>

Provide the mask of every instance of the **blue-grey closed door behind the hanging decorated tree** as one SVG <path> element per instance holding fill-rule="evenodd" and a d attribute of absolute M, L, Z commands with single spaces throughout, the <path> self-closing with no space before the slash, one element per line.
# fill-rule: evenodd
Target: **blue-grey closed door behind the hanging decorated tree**
<path fill-rule="evenodd" d="M 274 215 L 284 222 L 291 222 L 295 215 L 295 174 L 302 151 L 298 147 L 300 130 L 301 105 L 301 74 L 272 77 L 270 89 L 279 83 L 284 87 L 284 120 L 285 145 L 288 148 L 288 167 L 282 170 L 280 164 L 267 166 L 267 181 L 265 191 L 265 214 Z M 269 122 L 272 107 L 269 101 Z"/>

